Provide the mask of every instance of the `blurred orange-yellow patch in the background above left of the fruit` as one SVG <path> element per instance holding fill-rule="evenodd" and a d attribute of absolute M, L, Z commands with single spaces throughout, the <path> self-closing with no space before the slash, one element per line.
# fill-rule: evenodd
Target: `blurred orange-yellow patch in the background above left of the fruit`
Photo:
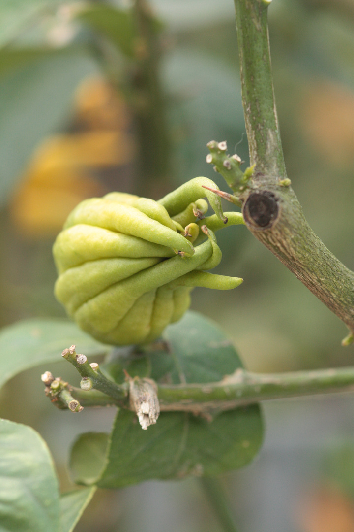
<path fill-rule="evenodd" d="M 126 105 L 108 82 L 85 81 L 77 90 L 74 113 L 76 131 L 42 142 L 12 198 L 11 218 L 22 234 L 54 237 L 78 203 L 105 194 L 101 170 L 132 161 Z"/>

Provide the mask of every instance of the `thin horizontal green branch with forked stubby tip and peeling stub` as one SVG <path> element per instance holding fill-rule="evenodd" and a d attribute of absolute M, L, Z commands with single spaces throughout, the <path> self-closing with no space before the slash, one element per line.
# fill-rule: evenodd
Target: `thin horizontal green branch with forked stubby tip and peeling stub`
<path fill-rule="evenodd" d="M 175 385 L 158 385 L 152 379 L 126 373 L 126 382 L 116 384 L 103 375 L 97 363 L 89 364 L 84 355 L 77 355 L 75 346 L 63 353 L 79 371 L 81 383 L 90 381 L 90 385 L 75 388 L 46 371 L 41 376 L 46 395 L 59 409 L 81 412 L 84 406 L 115 405 L 135 412 L 144 430 L 157 422 L 160 411 L 212 419 L 220 412 L 260 401 L 354 391 L 354 367 L 273 374 L 238 368 L 219 382 Z"/>

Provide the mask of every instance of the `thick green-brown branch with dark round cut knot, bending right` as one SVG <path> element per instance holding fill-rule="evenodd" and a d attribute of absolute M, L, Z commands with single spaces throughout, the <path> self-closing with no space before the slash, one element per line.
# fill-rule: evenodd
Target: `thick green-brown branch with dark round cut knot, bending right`
<path fill-rule="evenodd" d="M 267 2 L 235 0 L 241 85 L 251 163 L 255 172 L 243 195 L 248 229 L 289 268 L 351 332 L 354 273 L 308 226 L 286 177 L 275 109 Z"/>

